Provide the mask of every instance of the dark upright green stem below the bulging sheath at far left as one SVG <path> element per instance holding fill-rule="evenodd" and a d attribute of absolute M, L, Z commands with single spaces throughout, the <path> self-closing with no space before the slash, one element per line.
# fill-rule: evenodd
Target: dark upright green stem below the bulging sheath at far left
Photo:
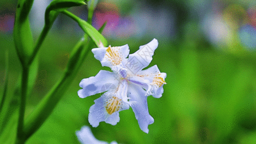
<path fill-rule="evenodd" d="M 24 113 L 25 113 L 27 83 L 28 83 L 28 68 L 29 67 L 23 67 L 23 71 L 22 71 L 21 104 L 20 104 L 16 144 L 24 144 L 25 142 Z"/>

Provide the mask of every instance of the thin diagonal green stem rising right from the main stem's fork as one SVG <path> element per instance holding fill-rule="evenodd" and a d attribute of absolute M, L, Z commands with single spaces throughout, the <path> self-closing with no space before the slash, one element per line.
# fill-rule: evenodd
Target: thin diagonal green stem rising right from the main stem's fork
<path fill-rule="evenodd" d="M 50 28 L 51 28 L 51 24 L 50 25 L 45 24 L 45 26 L 44 26 L 44 28 L 43 28 L 43 30 L 42 30 L 42 32 L 41 32 L 41 34 L 40 34 L 40 36 L 37 40 L 37 44 L 34 48 L 34 51 L 33 51 L 32 55 L 30 56 L 30 59 L 28 60 L 28 65 L 31 65 L 31 63 L 35 59 L 35 57 L 37 55 L 37 52 L 38 52 L 39 48 L 41 47 L 43 41 L 45 40 L 45 37 L 47 36 Z"/>

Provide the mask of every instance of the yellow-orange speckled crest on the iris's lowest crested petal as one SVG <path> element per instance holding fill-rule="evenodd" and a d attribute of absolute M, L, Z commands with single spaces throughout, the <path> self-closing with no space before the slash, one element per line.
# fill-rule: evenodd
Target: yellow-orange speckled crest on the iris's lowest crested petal
<path fill-rule="evenodd" d="M 106 102 L 106 110 L 111 115 L 112 113 L 122 109 L 122 99 L 119 99 L 116 96 L 112 96 L 110 100 Z"/>

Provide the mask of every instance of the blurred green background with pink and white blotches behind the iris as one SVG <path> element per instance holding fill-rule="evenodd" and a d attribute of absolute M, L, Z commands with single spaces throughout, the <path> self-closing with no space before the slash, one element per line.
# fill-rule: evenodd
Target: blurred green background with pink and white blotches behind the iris
<path fill-rule="evenodd" d="M 35 0 L 30 14 L 35 40 L 50 0 Z M 3 110 L 15 111 L 21 74 L 12 38 L 16 0 L 0 2 L 0 94 L 5 51 L 9 51 L 8 98 Z M 86 6 L 69 11 L 86 20 Z M 155 122 L 141 131 L 130 108 L 112 126 L 92 128 L 89 108 L 101 94 L 77 96 L 82 79 L 102 67 L 90 52 L 73 83 L 43 126 L 26 144 L 79 144 L 75 131 L 92 128 L 102 141 L 122 144 L 256 144 L 256 5 L 250 0 L 99 0 L 93 25 L 105 21 L 109 45 L 128 44 L 130 53 L 153 38 L 159 45 L 150 66 L 167 73 L 161 98 L 149 96 Z M 39 51 L 35 85 L 27 97 L 25 118 L 61 78 L 69 55 L 83 31 L 60 14 Z M 2 95 L 0 95 L 2 96 Z M 8 123 L 6 121 L 6 123 Z"/>

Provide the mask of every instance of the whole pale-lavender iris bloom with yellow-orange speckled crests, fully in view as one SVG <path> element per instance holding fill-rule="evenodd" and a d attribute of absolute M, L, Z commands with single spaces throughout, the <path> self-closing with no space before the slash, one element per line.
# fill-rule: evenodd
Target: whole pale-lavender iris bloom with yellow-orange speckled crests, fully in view
<path fill-rule="evenodd" d="M 128 45 L 92 49 L 101 65 L 113 71 L 101 70 L 95 77 L 83 79 L 79 84 L 83 88 L 78 91 L 81 98 L 107 91 L 89 109 L 88 119 L 93 127 L 101 121 L 116 125 L 120 120 L 119 111 L 132 107 L 140 129 L 148 133 L 147 127 L 154 119 L 148 112 L 147 96 L 161 97 L 163 84 L 166 84 L 166 73 L 161 73 L 157 65 L 142 70 L 151 62 L 157 47 L 158 40 L 153 39 L 130 55 Z"/>

